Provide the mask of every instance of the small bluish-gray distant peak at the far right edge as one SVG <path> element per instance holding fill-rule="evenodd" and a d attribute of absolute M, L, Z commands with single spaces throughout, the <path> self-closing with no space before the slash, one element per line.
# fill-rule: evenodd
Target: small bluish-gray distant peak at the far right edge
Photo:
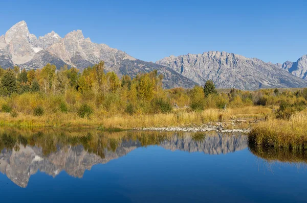
<path fill-rule="evenodd" d="M 279 67 L 301 79 L 307 80 L 307 55 L 302 56 L 296 62 L 286 61 Z"/>

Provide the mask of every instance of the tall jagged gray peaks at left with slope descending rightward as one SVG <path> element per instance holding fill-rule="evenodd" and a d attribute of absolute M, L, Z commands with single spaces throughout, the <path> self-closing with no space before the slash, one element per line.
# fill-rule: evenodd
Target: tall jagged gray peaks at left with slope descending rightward
<path fill-rule="evenodd" d="M 54 31 L 37 38 L 30 34 L 27 23 L 20 21 L 0 37 L 0 66 L 3 68 L 18 65 L 37 69 L 51 63 L 57 68 L 68 65 L 82 70 L 101 60 L 105 63 L 106 71 L 114 71 L 119 76 L 129 74 L 135 77 L 139 72 L 157 69 L 159 74 L 164 75 L 163 85 L 166 88 L 195 85 L 168 67 L 138 60 L 106 44 L 93 43 L 90 38 L 84 38 L 80 30 L 70 32 L 63 38 Z"/>

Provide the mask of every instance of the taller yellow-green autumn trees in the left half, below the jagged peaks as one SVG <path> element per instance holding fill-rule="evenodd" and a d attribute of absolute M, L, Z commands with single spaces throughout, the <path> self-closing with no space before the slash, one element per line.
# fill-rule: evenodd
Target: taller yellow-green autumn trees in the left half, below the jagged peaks
<path fill-rule="evenodd" d="M 77 111 L 76 106 L 80 107 L 78 115 L 81 117 L 89 116 L 94 109 L 128 114 L 169 112 L 171 106 L 163 91 L 162 80 L 163 75 L 157 70 L 139 73 L 133 79 L 129 75 L 119 78 L 115 72 L 105 71 L 103 61 L 82 72 L 66 65 L 58 70 L 51 64 L 36 70 L 20 70 L 15 66 L 6 70 L 0 68 L 0 95 L 2 99 L 14 97 L 9 102 L 9 99 L 3 99 L 2 103 L 25 112 L 23 108 L 26 107 L 17 104 L 18 100 L 28 96 L 31 103 L 31 95 L 37 94 L 39 109 L 30 112 L 40 112 L 37 113 L 40 115 L 48 111 L 46 102 L 51 103 L 53 99 L 57 99 L 61 111 Z M 54 112 L 54 108 L 49 111 Z"/>

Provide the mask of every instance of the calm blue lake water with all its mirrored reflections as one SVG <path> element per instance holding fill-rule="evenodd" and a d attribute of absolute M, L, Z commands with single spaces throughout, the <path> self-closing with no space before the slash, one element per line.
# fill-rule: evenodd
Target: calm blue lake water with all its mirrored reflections
<path fill-rule="evenodd" d="M 307 202 L 307 156 L 246 135 L 1 129 L 1 202 Z"/>

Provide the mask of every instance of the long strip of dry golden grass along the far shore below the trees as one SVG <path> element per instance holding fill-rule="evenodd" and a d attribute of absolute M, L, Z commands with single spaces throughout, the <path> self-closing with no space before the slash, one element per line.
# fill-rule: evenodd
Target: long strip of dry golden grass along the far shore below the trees
<path fill-rule="evenodd" d="M 165 126 L 200 125 L 206 122 L 227 121 L 230 119 L 257 119 L 271 113 L 271 109 L 261 106 L 232 108 L 226 111 L 206 109 L 202 112 L 174 110 L 167 114 L 136 114 L 106 116 L 94 114 L 91 118 L 79 118 L 73 113 L 54 113 L 43 116 L 19 113 L 13 118 L 8 113 L 0 113 L 0 124 L 24 127 L 62 127 L 62 128 L 148 128 Z"/>

